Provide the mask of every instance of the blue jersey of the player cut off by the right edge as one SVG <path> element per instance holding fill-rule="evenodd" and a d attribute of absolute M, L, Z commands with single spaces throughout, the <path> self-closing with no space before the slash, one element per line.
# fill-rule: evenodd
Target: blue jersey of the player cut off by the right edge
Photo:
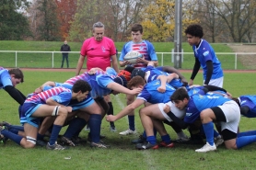
<path fill-rule="evenodd" d="M 248 118 L 256 118 L 256 96 L 239 96 L 241 107 L 248 107 L 250 111 L 243 115 Z"/>

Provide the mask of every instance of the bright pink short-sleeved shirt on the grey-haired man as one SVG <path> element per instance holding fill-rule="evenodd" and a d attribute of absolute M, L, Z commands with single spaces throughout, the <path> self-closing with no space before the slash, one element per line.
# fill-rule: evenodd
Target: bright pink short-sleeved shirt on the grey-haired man
<path fill-rule="evenodd" d="M 92 37 L 84 41 L 80 54 L 87 56 L 87 70 L 99 67 L 105 71 L 111 66 L 111 56 L 116 54 L 116 48 L 110 38 L 103 37 L 97 41 Z"/>

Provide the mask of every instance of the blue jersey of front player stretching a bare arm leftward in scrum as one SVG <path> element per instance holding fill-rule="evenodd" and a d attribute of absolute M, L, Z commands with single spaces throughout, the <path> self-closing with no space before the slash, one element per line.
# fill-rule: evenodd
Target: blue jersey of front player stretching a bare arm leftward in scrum
<path fill-rule="evenodd" d="M 142 92 L 137 96 L 137 98 L 145 100 L 145 102 L 149 102 L 151 104 L 169 102 L 169 97 L 175 92 L 175 88 L 170 85 L 166 85 L 166 92 L 160 93 L 157 91 L 159 86 L 161 86 L 159 80 L 154 80 L 145 84 Z"/>

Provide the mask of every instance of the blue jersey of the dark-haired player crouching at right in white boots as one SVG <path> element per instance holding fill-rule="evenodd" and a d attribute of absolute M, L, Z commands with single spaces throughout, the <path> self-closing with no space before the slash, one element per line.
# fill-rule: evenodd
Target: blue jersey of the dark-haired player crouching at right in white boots
<path fill-rule="evenodd" d="M 227 97 L 211 92 L 204 95 L 204 92 L 200 91 L 190 97 L 184 121 L 186 123 L 193 123 L 196 119 L 199 119 L 200 113 L 204 109 L 221 106 L 230 100 Z"/>

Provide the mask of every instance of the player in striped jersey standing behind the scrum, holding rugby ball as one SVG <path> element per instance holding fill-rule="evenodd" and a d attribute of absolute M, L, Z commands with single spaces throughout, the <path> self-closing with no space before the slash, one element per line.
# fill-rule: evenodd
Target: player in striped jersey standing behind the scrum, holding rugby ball
<path fill-rule="evenodd" d="M 133 40 L 127 42 L 122 47 L 122 52 L 119 57 L 119 63 L 120 66 L 124 67 L 126 65 L 132 65 L 130 62 L 124 61 L 124 56 L 129 51 L 138 51 L 141 54 L 143 54 L 143 58 L 138 58 L 136 63 L 134 64 L 135 68 L 142 68 L 146 67 L 147 63 L 149 61 L 154 62 L 154 66 L 157 66 L 157 54 L 155 52 L 155 48 L 152 43 L 150 43 L 147 40 L 143 40 L 143 27 L 141 24 L 134 24 L 132 27 L 132 38 Z M 134 102 L 135 96 L 126 96 L 126 104 L 130 105 Z M 129 121 L 129 129 L 124 130 L 120 132 L 121 135 L 128 135 L 128 134 L 134 134 L 136 132 L 135 130 L 135 124 L 134 124 L 134 111 L 131 111 L 128 115 L 128 121 Z"/>

